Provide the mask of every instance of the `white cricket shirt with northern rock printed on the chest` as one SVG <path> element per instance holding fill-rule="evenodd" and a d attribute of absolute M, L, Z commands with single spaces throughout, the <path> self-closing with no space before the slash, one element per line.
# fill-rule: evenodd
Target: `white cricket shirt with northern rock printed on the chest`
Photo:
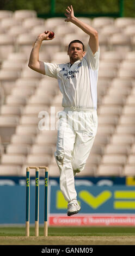
<path fill-rule="evenodd" d="M 93 54 L 88 45 L 85 56 L 72 65 L 44 62 L 46 75 L 58 80 L 63 107 L 97 108 L 99 56 L 100 49 Z"/>

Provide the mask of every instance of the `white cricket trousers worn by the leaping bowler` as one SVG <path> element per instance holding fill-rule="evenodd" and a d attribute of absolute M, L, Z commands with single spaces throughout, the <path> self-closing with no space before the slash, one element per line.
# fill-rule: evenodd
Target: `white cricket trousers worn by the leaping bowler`
<path fill-rule="evenodd" d="M 97 131 L 97 112 L 64 108 L 59 113 L 57 148 L 54 154 L 60 171 L 60 190 L 66 201 L 77 199 L 75 172 L 81 172 L 88 159 Z"/>

